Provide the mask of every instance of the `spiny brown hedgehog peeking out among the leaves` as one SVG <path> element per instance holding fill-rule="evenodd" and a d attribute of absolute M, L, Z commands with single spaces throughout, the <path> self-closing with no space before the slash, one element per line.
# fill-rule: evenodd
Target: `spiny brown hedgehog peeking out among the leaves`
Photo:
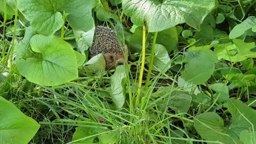
<path fill-rule="evenodd" d="M 110 27 L 96 27 L 96 34 L 89 51 L 92 57 L 103 53 L 106 61 L 106 70 L 113 69 L 115 65 L 121 65 L 126 62 L 117 37 Z M 126 45 L 124 46 L 124 51 L 127 53 Z"/>

